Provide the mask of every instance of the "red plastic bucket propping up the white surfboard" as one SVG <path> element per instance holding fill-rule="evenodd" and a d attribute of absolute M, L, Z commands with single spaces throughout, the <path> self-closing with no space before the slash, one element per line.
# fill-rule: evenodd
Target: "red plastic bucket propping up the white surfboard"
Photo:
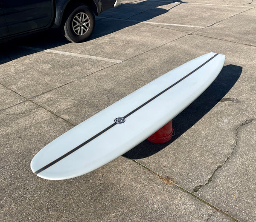
<path fill-rule="evenodd" d="M 172 139 L 173 128 L 172 128 L 172 120 L 164 125 L 160 130 L 156 131 L 153 135 L 148 137 L 148 141 L 154 143 L 164 143 L 168 142 Z"/>

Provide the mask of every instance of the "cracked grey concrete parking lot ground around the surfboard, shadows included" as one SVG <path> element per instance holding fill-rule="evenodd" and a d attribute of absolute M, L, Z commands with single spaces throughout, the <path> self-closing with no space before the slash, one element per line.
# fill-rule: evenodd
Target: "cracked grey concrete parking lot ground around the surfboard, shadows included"
<path fill-rule="evenodd" d="M 0 221 L 256 221 L 255 17 L 252 0 L 125 0 L 88 42 L 53 30 L 1 45 Z M 53 139 L 211 51 L 224 68 L 170 142 L 74 179 L 32 173 Z"/>

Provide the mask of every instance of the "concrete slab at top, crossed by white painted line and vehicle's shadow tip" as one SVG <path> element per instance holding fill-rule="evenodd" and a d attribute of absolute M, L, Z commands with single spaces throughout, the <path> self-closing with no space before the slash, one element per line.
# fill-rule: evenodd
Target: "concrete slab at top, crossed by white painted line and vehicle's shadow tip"
<path fill-rule="evenodd" d="M 211 4 L 206 1 L 195 3 L 194 1 L 148 0 L 125 2 L 121 7 L 105 11 L 101 16 L 134 22 L 140 21 L 150 26 L 159 26 L 172 30 L 194 32 L 250 8 L 253 8 L 250 4 L 227 3 L 226 1 L 217 1 Z M 182 12 L 180 13 L 180 11 Z M 126 21 L 123 22 L 125 23 Z"/>

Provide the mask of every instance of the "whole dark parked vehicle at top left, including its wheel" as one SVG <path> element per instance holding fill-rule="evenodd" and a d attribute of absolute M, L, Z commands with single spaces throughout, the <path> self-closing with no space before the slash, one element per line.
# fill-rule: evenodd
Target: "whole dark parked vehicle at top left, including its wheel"
<path fill-rule="evenodd" d="M 121 0 L 0 0 L 0 39 L 60 27 L 71 42 L 90 38 L 95 15 Z"/>

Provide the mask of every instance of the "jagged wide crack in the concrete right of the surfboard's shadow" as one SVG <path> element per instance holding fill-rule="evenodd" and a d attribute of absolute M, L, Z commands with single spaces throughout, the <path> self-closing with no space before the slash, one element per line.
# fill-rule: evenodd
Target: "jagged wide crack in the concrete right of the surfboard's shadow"
<path fill-rule="evenodd" d="M 208 185 L 210 182 L 212 182 L 212 178 L 213 176 L 215 175 L 215 172 L 218 171 L 218 169 L 220 169 L 221 167 L 223 167 L 223 165 L 233 156 L 233 154 L 235 153 L 235 149 L 237 147 L 237 144 L 238 144 L 238 134 L 239 134 L 239 128 L 243 125 L 246 125 L 246 124 L 249 124 L 251 122 L 253 122 L 254 119 L 250 119 L 250 120 L 246 120 L 244 122 L 241 123 L 241 125 L 239 125 L 237 128 L 236 128 L 236 141 L 235 141 L 235 146 L 233 147 L 233 150 L 231 151 L 231 154 L 227 157 L 226 161 L 221 164 L 221 165 L 218 165 L 217 168 L 213 171 L 212 173 L 212 176 L 209 177 L 207 183 L 203 184 L 203 185 L 198 185 L 198 186 L 195 186 L 194 190 L 192 191 L 192 194 L 195 193 L 195 192 L 198 192 L 203 186 L 205 185 Z"/>

